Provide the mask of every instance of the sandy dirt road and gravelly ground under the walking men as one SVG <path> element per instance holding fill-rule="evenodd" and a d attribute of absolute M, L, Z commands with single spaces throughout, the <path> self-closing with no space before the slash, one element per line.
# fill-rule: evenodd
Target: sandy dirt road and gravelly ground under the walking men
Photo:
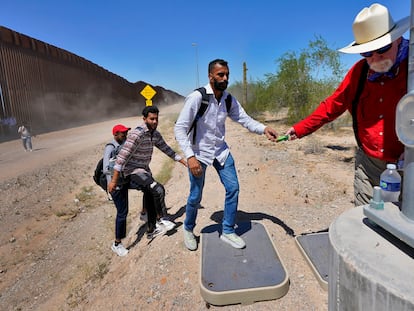
<path fill-rule="evenodd" d="M 160 130 L 175 148 L 172 126 L 179 106 L 161 110 Z M 274 119 L 274 116 L 272 116 Z M 39 135 L 34 152 L 20 141 L 0 144 L 0 309 L 2 310 L 206 310 L 200 295 L 200 251 L 182 243 L 186 169 L 175 164 L 165 185 L 177 231 L 148 241 L 138 217 L 142 196 L 130 192 L 124 258 L 110 250 L 115 208 L 93 184 L 92 172 L 115 123 Z M 279 131 L 286 128 L 277 121 Z M 351 129 L 319 132 L 274 144 L 228 123 L 241 193 L 239 219 L 269 232 L 290 279 L 280 299 L 217 310 L 327 310 L 324 291 L 299 252 L 294 236 L 328 228 L 352 208 L 354 139 Z M 178 150 L 178 149 L 177 149 Z M 155 153 L 159 173 L 169 159 Z M 207 171 L 196 235 L 219 221 L 224 192 Z"/>

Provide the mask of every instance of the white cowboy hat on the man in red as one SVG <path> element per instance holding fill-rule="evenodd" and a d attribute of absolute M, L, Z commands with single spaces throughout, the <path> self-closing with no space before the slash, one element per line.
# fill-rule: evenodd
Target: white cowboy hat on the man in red
<path fill-rule="evenodd" d="M 355 17 L 352 24 L 355 41 L 339 51 L 350 54 L 375 51 L 401 37 L 409 27 L 409 16 L 395 23 L 385 6 L 374 3 Z"/>

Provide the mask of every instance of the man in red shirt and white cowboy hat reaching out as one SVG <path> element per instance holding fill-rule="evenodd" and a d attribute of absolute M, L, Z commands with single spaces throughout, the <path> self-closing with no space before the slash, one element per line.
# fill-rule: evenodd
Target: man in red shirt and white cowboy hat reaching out
<path fill-rule="evenodd" d="M 302 138 L 347 110 L 352 114 L 358 143 L 355 206 L 369 204 L 386 164 L 403 157 L 395 113 L 407 93 L 408 40 L 402 35 L 409 25 L 409 17 L 394 22 L 388 9 L 377 3 L 359 12 L 352 25 L 355 41 L 339 51 L 359 53 L 363 59 L 353 65 L 331 96 L 286 132 L 290 139 Z"/>

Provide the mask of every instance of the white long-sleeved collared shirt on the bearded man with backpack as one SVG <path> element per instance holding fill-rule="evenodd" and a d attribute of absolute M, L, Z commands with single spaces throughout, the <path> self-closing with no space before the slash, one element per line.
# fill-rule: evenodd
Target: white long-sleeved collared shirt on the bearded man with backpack
<path fill-rule="evenodd" d="M 175 138 L 187 159 L 195 156 L 197 160 L 206 165 L 211 165 L 214 159 L 217 159 L 223 165 L 230 152 L 225 142 L 227 116 L 253 133 L 263 134 L 266 126 L 250 117 L 234 97 L 232 97 L 230 111 L 227 111 L 225 100 L 229 93 L 226 91 L 223 92 L 218 102 L 210 84 L 207 84 L 205 88 L 210 97 L 209 105 L 197 122 L 195 143 L 192 144 L 194 130 L 190 133 L 188 130 L 201 105 L 202 95 L 199 91 L 192 92 L 185 99 L 184 107 L 174 127 Z"/>

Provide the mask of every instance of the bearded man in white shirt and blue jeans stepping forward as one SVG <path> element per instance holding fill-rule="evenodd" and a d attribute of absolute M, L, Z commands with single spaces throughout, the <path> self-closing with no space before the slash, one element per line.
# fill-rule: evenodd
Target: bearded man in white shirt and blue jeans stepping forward
<path fill-rule="evenodd" d="M 226 61 L 222 59 L 211 61 L 208 65 L 209 84 L 204 87 L 208 95 L 206 111 L 200 118 L 197 117 L 202 94 L 196 90 L 185 99 L 184 107 L 175 124 L 175 136 L 187 158 L 189 168 L 190 194 L 187 199 L 183 231 L 184 244 L 192 251 L 197 249 L 193 230 L 202 198 L 206 169 L 209 165 L 217 171 L 226 191 L 220 238 L 235 248 L 243 248 L 246 245 L 235 233 L 234 228 L 239 182 L 233 156 L 225 142 L 226 117 L 229 116 L 253 133 L 265 134 L 271 141 L 276 141 L 277 133 L 274 129 L 252 119 L 240 103 L 225 91 L 229 74 Z M 198 121 L 193 128 L 192 124 L 196 118 Z"/>

